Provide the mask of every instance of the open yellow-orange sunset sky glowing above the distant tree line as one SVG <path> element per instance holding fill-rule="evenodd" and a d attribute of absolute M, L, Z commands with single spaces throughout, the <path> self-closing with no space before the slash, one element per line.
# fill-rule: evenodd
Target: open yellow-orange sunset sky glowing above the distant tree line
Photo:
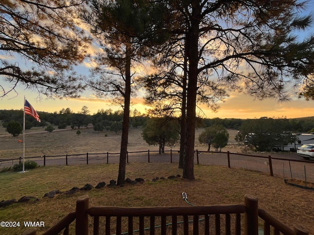
<path fill-rule="evenodd" d="M 310 1 L 309 11 L 314 9 L 314 0 Z M 306 34 L 314 34 L 314 25 L 306 32 Z M 299 35 L 300 36 L 300 35 Z M 97 48 L 91 48 L 97 50 Z M 1 56 L 1 55 L 0 55 Z M 14 60 L 15 58 L 12 58 Z M 90 65 L 88 63 L 82 64 L 78 67 L 78 73 L 88 74 Z M 3 80 L 0 78 L 1 85 Z M 9 84 L 5 84 L 9 88 Z M 110 100 L 97 98 L 91 92 L 81 94 L 79 98 L 63 98 L 63 99 L 47 99 L 43 96 L 38 98 L 35 91 L 25 90 L 23 86 L 16 89 L 17 93 L 11 92 L 7 96 L 0 98 L 1 109 L 23 109 L 24 96 L 33 108 L 40 112 L 55 112 L 62 108 L 70 108 L 73 112 L 78 113 L 83 106 L 87 106 L 90 114 L 96 113 L 100 109 L 118 110 L 121 107 L 114 105 Z M 301 118 L 314 116 L 314 101 L 306 101 L 297 97 L 292 97 L 288 102 L 280 102 L 276 99 L 264 99 L 262 101 L 255 100 L 254 97 L 233 92 L 230 96 L 220 103 L 220 108 L 217 112 L 212 112 L 208 107 L 201 105 L 203 118 L 261 118 L 261 117 L 287 117 L 287 118 Z M 146 107 L 142 97 L 131 99 L 131 111 L 136 109 L 142 114 L 145 113 Z"/>

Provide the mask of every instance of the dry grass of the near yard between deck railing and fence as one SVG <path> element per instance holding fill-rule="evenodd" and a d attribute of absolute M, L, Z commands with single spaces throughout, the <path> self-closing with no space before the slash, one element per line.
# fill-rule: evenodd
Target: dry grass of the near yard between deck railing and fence
<path fill-rule="evenodd" d="M 0 209 L 4 221 L 44 221 L 47 230 L 67 213 L 75 210 L 79 195 L 88 194 L 90 206 L 179 206 L 188 201 L 195 205 L 243 203 L 245 194 L 259 198 L 259 206 L 276 218 L 292 227 L 302 224 L 314 231 L 314 191 L 288 186 L 281 178 L 271 177 L 260 172 L 218 166 L 195 165 L 195 180 L 159 180 L 155 177 L 182 174 L 177 164 L 138 163 L 128 164 L 126 177 L 145 179 L 144 184 L 125 185 L 124 187 L 92 189 L 71 196 L 59 195 L 53 199 L 40 199 L 37 203 L 15 204 Z M 117 164 L 95 164 L 77 166 L 39 167 L 24 174 L 1 173 L 1 199 L 19 199 L 25 195 L 42 196 L 53 189 L 61 191 L 72 187 L 82 187 L 116 179 Z M 0 228 L 2 235 L 20 235 L 20 228 Z"/>

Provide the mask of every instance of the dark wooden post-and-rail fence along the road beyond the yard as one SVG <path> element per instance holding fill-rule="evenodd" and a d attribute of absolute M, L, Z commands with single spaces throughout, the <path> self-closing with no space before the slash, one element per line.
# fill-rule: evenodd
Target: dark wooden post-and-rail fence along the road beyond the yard
<path fill-rule="evenodd" d="M 164 154 L 158 154 L 158 150 L 146 150 L 127 152 L 129 162 L 179 162 L 178 150 L 165 150 Z M 56 156 L 27 157 L 39 165 L 77 165 L 77 164 L 116 164 L 119 163 L 120 153 L 83 153 L 65 154 Z M 21 158 L 0 160 L 0 167 L 9 167 L 18 164 Z M 233 152 L 195 151 L 195 164 L 224 165 L 234 168 L 246 168 L 267 172 L 270 175 L 283 177 L 284 179 L 296 179 L 314 183 L 314 161 L 285 159 L 272 156 L 250 155 Z"/>

